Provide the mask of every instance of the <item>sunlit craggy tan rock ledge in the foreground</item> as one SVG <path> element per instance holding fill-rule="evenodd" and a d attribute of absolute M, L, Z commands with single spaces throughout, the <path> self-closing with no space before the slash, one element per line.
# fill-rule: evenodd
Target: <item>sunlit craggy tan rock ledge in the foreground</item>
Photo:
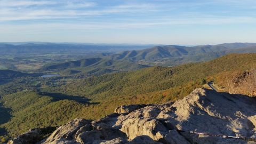
<path fill-rule="evenodd" d="M 115 112 L 93 122 L 74 119 L 38 143 L 256 143 L 177 131 L 255 138 L 256 100 L 244 95 L 196 89 L 174 103 L 121 106 Z"/>

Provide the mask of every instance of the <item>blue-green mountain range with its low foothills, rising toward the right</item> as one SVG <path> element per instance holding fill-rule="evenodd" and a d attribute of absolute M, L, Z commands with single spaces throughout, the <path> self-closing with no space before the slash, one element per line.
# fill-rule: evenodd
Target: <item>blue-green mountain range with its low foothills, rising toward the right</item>
<path fill-rule="evenodd" d="M 41 70 L 62 71 L 63 75 L 101 75 L 149 66 L 175 66 L 182 63 L 212 60 L 229 53 L 255 53 L 256 43 L 178 46 L 162 45 L 149 49 L 123 51 L 116 54 L 95 54 L 91 58 L 47 64 Z"/>

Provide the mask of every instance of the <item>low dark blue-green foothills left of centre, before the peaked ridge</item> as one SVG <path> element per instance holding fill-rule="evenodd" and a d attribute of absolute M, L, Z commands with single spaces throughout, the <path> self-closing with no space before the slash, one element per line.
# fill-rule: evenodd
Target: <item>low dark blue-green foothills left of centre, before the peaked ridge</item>
<path fill-rule="evenodd" d="M 45 65 L 43 71 L 61 71 L 62 75 L 85 74 L 101 75 L 117 71 L 129 71 L 146 68 L 146 65 L 140 65 L 127 60 L 111 60 L 101 58 L 82 59 L 77 61 L 68 61 L 53 65 Z"/>

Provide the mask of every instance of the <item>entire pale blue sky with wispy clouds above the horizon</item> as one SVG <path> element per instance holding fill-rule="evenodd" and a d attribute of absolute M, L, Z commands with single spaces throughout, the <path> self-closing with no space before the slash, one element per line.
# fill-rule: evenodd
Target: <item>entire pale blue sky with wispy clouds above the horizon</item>
<path fill-rule="evenodd" d="M 255 0 L 0 0 L 0 42 L 256 42 Z"/>

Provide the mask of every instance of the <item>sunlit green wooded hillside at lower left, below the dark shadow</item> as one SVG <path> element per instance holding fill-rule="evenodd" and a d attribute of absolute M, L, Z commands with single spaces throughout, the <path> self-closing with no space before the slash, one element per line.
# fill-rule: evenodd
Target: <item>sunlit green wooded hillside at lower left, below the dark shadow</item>
<path fill-rule="evenodd" d="M 20 134 L 31 127 L 58 126 L 66 123 L 77 117 L 79 111 L 87 106 L 74 100 L 56 100 L 33 91 L 8 94 L 2 97 L 0 102 L 5 108 L 2 111 L 5 115 L 1 116 L 1 127 L 5 127 L 10 135 Z M 6 110 L 11 110 L 11 113 L 7 113 Z"/>

